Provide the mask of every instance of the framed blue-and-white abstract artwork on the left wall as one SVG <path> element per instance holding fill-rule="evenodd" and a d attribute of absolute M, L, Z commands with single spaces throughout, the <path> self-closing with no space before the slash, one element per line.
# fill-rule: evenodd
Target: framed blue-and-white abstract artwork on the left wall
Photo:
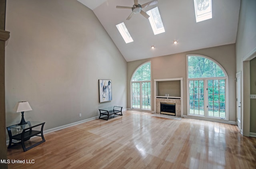
<path fill-rule="evenodd" d="M 99 80 L 100 103 L 112 101 L 112 82 L 111 80 Z"/>

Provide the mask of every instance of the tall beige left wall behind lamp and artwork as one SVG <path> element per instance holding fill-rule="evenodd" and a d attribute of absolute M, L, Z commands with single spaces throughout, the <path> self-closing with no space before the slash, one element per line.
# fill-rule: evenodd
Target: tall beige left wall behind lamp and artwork
<path fill-rule="evenodd" d="M 92 10 L 76 0 L 8 0 L 6 125 L 27 100 L 25 120 L 45 130 L 93 118 L 98 108 L 127 104 L 127 62 Z M 112 102 L 99 103 L 98 79 L 112 80 Z M 81 113 L 82 117 L 78 114 Z"/>

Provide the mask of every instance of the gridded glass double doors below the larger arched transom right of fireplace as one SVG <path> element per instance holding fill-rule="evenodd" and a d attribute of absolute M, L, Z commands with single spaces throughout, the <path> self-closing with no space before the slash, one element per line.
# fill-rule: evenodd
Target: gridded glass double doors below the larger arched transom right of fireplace
<path fill-rule="evenodd" d="M 189 114 L 226 118 L 225 79 L 189 81 Z"/>

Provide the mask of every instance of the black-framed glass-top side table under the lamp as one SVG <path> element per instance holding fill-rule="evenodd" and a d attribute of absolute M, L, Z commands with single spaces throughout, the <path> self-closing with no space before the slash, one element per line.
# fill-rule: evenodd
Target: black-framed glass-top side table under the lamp
<path fill-rule="evenodd" d="M 21 144 L 23 151 L 28 151 L 29 149 L 32 149 L 33 147 L 45 142 L 44 134 L 43 134 L 44 124 L 45 124 L 45 122 L 28 121 L 27 124 L 22 124 L 22 125 L 15 124 L 15 125 L 6 127 L 7 131 L 8 131 L 8 135 L 9 135 L 8 148 L 10 148 L 16 144 Z M 38 127 L 38 126 L 41 126 L 41 130 L 32 130 L 33 128 Z M 22 130 L 22 133 L 12 136 L 11 129 Z M 34 143 L 33 145 L 30 145 L 29 147 L 26 147 L 24 141 L 27 141 L 34 136 L 42 137 L 42 141 L 39 141 L 37 143 Z M 14 142 L 13 140 L 16 140 L 18 142 Z"/>

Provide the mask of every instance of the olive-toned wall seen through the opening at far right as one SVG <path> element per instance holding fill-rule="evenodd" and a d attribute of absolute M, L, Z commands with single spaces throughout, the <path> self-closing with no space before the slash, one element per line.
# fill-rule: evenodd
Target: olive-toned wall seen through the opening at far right
<path fill-rule="evenodd" d="M 250 94 L 256 94 L 256 58 L 250 61 Z M 256 99 L 250 99 L 250 132 L 256 133 Z"/>

